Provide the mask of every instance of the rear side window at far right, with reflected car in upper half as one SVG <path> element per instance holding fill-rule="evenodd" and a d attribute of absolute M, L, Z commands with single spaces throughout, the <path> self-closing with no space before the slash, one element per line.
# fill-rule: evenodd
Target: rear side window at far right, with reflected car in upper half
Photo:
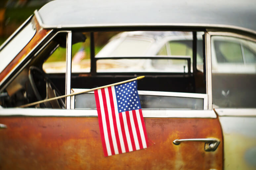
<path fill-rule="evenodd" d="M 214 107 L 256 107 L 256 41 L 211 37 Z"/>

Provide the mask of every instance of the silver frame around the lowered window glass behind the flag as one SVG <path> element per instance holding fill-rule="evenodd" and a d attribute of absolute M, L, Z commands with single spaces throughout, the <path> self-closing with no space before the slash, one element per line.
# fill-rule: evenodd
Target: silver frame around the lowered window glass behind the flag
<path fill-rule="evenodd" d="M 82 92 L 86 89 L 72 88 L 72 93 Z M 93 91 L 88 93 L 94 93 Z M 201 98 L 203 99 L 203 109 L 207 110 L 208 106 L 208 95 L 202 93 L 180 93 L 180 92 L 167 92 L 167 91 L 144 91 L 138 90 L 139 95 L 153 95 L 153 96 L 174 96 L 174 97 L 189 97 L 189 98 Z M 71 96 L 71 107 L 75 108 L 75 96 Z"/>

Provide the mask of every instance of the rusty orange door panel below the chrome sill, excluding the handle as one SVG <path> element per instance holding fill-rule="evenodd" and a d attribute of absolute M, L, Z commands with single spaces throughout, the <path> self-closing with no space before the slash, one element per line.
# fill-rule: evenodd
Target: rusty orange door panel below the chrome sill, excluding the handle
<path fill-rule="evenodd" d="M 149 148 L 104 157 L 97 117 L 0 117 L 0 169 L 222 169 L 218 119 L 145 118 Z M 204 142 L 174 139 L 215 137 Z"/>

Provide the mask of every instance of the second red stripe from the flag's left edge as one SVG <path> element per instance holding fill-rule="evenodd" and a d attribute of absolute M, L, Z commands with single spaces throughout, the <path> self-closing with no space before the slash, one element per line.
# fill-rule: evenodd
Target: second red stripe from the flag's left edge
<path fill-rule="evenodd" d="M 106 118 L 106 124 L 107 124 L 107 134 L 108 134 L 108 140 L 109 140 L 111 155 L 115 155 L 113 140 L 112 140 L 111 131 L 110 131 L 108 111 L 107 111 L 107 99 L 106 99 L 106 94 L 105 94 L 105 89 L 104 88 L 101 89 L 101 94 L 102 94 L 103 106 L 104 106 L 104 111 L 105 111 L 105 118 Z"/>

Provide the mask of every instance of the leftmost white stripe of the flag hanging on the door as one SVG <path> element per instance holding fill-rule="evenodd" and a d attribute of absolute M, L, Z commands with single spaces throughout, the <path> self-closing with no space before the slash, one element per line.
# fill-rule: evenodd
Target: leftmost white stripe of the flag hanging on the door
<path fill-rule="evenodd" d="M 108 140 L 108 135 L 107 135 L 107 123 L 106 123 L 106 118 L 105 118 L 105 111 L 104 111 L 104 105 L 103 105 L 101 89 L 98 89 L 98 94 L 99 94 L 99 101 L 100 101 L 100 108 L 101 108 L 101 116 L 102 116 L 104 138 L 105 138 L 105 143 L 106 143 L 106 148 L 107 148 L 107 155 L 110 156 L 112 154 L 111 154 L 109 140 Z"/>

